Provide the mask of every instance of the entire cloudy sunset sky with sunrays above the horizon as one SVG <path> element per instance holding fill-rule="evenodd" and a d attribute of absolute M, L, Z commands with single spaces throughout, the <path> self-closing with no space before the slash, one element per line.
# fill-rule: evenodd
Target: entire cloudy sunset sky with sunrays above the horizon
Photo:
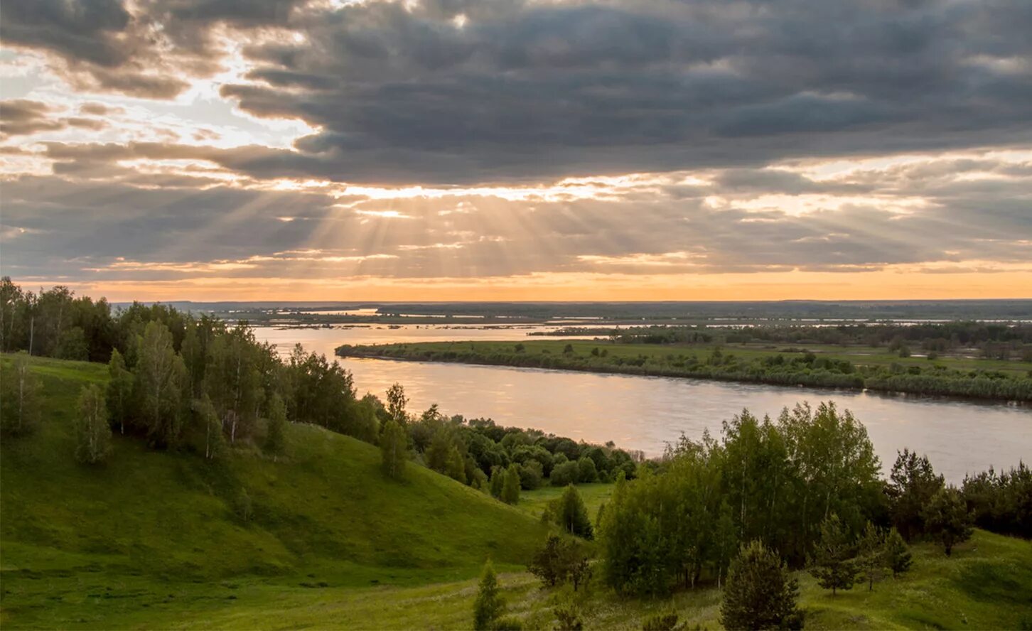
<path fill-rule="evenodd" d="M 0 268 L 110 300 L 1032 297 L 1028 0 L 12 0 Z"/>

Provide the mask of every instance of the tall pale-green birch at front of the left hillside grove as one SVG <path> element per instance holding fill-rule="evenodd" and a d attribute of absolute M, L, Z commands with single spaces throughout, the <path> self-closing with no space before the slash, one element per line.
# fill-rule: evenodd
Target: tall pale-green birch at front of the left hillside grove
<path fill-rule="evenodd" d="M 171 332 L 160 322 L 147 323 L 137 336 L 133 374 L 148 437 L 155 444 L 173 445 L 181 429 L 186 365 L 172 347 Z"/>

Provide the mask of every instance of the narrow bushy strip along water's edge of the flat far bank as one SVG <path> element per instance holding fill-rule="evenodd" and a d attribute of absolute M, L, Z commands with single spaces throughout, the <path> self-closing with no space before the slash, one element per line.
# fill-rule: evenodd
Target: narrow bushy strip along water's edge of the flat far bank
<path fill-rule="evenodd" d="M 462 341 L 343 345 L 340 357 L 453 362 L 585 372 L 690 377 L 773 386 L 875 390 L 999 401 L 1032 401 L 1032 363 L 1000 369 L 978 360 L 785 352 L 605 340 Z"/>

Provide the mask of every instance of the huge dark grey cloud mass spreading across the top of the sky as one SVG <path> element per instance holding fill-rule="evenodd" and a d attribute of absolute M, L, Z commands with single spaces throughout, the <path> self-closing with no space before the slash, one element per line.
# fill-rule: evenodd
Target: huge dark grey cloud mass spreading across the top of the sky
<path fill-rule="evenodd" d="M 252 68 L 222 95 L 319 130 L 218 154 L 256 177 L 469 184 L 1032 142 L 1027 0 L 11 6 L 7 41 L 152 97 L 212 74 L 217 27 L 237 29 Z M 268 27 L 302 38 L 248 43 Z"/>

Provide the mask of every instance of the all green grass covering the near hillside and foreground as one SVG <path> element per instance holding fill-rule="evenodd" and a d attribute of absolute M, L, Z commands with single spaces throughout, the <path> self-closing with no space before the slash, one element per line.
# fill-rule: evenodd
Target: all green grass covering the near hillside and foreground
<path fill-rule="evenodd" d="M 0 361 L 9 361 L 5 357 Z M 310 426 L 286 459 L 233 451 L 221 464 L 117 437 L 110 462 L 72 459 L 71 411 L 95 364 L 34 360 L 44 383 L 35 434 L 0 453 L 0 626 L 21 628 L 383 628 L 472 625 L 475 577 L 503 571 L 509 612 L 551 629 L 547 591 L 523 564 L 545 536 L 540 514 L 561 489 L 516 507 L 416 466 L 380 474 L 376 447 Z M 244 520 L 240 489 L 253 501 Z M 584 485 L 593 517 L 612 487 Z M 875 591 L 832 597 L 799 573 L 807 628 L 1028 628 L 1032 542 L 976 531 L 946 558 L 914 549 L 914 568 Z M 714 587 L 672 600 L 577 594 L 587 628 L 641 628 L 650 612 L 718 628 Z"/>

